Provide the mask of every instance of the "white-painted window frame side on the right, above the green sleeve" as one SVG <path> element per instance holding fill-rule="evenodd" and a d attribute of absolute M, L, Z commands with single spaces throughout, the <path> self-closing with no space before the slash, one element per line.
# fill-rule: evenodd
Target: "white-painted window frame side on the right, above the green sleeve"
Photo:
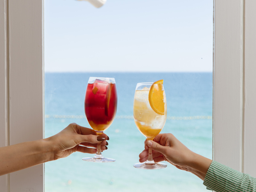
<path fill-rule="evenodd" d="M 256 1 L 214 5 L 213 159 L 256 177 Z"/>

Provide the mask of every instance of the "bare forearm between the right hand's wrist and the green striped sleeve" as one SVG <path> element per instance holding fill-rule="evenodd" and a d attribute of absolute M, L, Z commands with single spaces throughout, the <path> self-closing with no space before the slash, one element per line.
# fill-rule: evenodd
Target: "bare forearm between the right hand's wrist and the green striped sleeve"
<path fill-rule="evenodd" d="M 188 171 L 198 176 L 201 180 L 204 180 L 211 163 L 212 160 L 193 153 L 191 161 L 188 163 Z"/>

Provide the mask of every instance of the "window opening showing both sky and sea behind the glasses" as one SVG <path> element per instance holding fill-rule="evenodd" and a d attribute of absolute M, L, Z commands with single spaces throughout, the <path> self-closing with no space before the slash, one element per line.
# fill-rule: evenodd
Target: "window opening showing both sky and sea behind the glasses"
<path fill-rule="evenodd" d="M 90 127 L 84 115 L 90 76 L 114 77 L 118 94 L 103 152 L 116 162 L 84 162 L 91 154 L 79 152 L 47 162 L 45 192 L 206 190 L 198 177 L 171 164 L 133 167 L 145 140 L 134 123 L 133 99 L 137 83 L 163 79 L 161 133 L 212 158 L 212 7 L 204 0 L 108 0 L 99 9 L 86 1 L 45 1 L 45 137 L 72 122 Z"/>

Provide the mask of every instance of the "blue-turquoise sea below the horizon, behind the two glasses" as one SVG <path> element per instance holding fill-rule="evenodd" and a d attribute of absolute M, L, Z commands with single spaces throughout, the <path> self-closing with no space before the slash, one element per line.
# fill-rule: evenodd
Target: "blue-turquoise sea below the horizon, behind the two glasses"
<path fill-rule="evenodd" d="M 90 128 L 84 114 L 89 77 L 113 77 L 118 104 L 116 118 L 105 131 L 113 163 L 82 160 L 93 154 L 76 152 L 45 163 L 45 192 L 207 192 L 197 176 L 167 163 L 165 169 L 143 170 L 139 162 L 145 137 L 133 119 L 137 83 L 163 79 L 167 120 L 161 133 L 172 133 L 190 150 L 212 158 L 212 73 L 45 73 L 45 138 L 70 123 Z"/>

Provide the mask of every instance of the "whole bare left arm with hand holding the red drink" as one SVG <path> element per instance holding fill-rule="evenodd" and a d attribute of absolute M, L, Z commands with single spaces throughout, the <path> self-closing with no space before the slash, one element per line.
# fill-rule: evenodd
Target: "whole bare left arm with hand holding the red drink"
<path fill-rule="evenodd" d="M 102 150 L 107 149 L 107 139 L 106 134 L 97 136 L 90 128 L 70 124 L 47 139 L 0 148 L 0 175 L 67 157 L 76 151 L 94 154 L 97 143 L 101 143 Z"/>

